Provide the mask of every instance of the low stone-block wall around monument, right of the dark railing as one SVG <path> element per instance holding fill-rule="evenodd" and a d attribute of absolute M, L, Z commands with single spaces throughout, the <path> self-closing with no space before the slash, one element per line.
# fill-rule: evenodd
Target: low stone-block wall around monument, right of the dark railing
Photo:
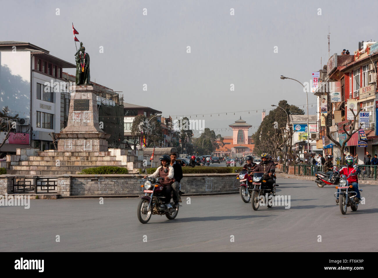
<path fill-rule="evenodd" d="M 65 175 L 58 179 L 58 194 L 85 195 L 138 195 L 143 194 L 142 176 L 127 175 Z M 70 187 L 69 187 L 70 184 Z M 185 193 L 222 193 L 238 191 L 236 174 L 184 174 L 181 191 Z"/>

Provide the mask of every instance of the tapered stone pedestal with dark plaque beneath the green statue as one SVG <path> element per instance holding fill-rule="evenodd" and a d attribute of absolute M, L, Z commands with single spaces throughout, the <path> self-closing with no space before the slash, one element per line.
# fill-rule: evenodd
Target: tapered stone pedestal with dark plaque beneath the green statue
<path fill-rule="evenodd" d="M 67 127 L 57 134 L 58 152 L 106 152 L 110 137 L 99 127 L 96 87 L 74 86 Z"/>

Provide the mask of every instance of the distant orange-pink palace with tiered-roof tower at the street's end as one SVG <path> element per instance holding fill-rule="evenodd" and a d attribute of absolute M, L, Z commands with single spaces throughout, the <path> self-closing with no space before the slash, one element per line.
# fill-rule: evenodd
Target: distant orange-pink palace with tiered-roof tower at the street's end
<path fill-rule="evenodd" d="M 243 157 L 246 155 L 252 155 L 254 149 L 254 142 L 252 136 L 248 136 L 248 130 L 251 124 L 246 123 L 240 117 L 235 123 L 230 124 L 229 127 L 232 128 L 232 136 L 223 137 L 223 147 L 219 147 L 214 155 L 216 156 L 230 156 L 230 157 Z M 216 142 L 220 144 L 220 140 L 217 139 Z"/>

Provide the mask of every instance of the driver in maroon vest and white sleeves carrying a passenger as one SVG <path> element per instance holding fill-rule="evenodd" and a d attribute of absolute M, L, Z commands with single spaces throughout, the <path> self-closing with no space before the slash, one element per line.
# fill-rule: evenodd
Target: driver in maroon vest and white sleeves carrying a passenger
<path fill-rule="evenodd" d="M 169 165 L 170 163 L 170 157 L 167 154 L 162 155 L 159 157 L 161 161 L 161 165 L 156 169 L 156 171 L 152 174 L 149 175 L 149 178 L 157 178 L 161 177 L 164 178 L 164 180 L 160 181 L 160 184 L 163 185 L 164 189 L 162 191 L 162 194 L 165 197 L 164 203 L 167 204 L 167 208 L 172 208 L 170 205 L 170 194 L 172 192 L 172 183 L 174 182 L 174 169 L 172 166 Z M 164 170 L 167 169 L 168 171 L 165 172 Z M 144 177 L 146 178 L 147 175 Z"/>

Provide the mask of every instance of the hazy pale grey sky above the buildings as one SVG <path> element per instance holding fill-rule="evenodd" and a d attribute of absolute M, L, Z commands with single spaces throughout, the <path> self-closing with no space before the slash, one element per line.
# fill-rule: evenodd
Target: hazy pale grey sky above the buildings
<path fill-rule="evenodd" d="M 378 39 L 373 18 L 356 3 L 1 0 L 0 40 L 30 42 L 74 64 L 73 22 L 90 54 L 91 80 L 122 91 L 124 102 L 204 120 L 223 136 L 241 116 L 251 135 L 262 109 L 268 114 L 282 99 L 307 113 L 301 84 L 280 75 L 310 82 L 327 64 L 328 26 L 331 56 Z M 364 6 L 378 10 L 376 1 Z M 312 93 L 308 103 L 316 113 Z"/>

